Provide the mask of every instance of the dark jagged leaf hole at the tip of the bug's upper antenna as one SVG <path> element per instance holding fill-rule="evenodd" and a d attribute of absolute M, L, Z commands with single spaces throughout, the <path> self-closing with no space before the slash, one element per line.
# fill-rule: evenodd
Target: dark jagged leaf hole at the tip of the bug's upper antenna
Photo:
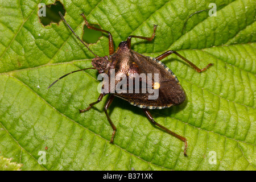
<path fill-rule="evenodd" d="M 59 11 L 61 14 L 63 14 L 63 16 L 65 16 L 66 11 L 64 9 L 63 4 L 60 1 L 55 1 L 55 3 L 53 3 L 51 5 L 47 5 L 45 7 L 40 7 L 39 8 L 39 12 L 41 13 L 41 14 L 39 13 L 40 22 L 44 26 L 47 26 L 51 23 L 59 24 L 59 22 L 61 20 Z"/>

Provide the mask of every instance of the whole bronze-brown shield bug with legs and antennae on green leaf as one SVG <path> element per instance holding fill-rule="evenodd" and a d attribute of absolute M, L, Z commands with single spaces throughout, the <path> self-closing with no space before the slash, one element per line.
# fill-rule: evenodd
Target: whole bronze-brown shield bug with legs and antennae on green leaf
<path fill-rule="evenodd" d="M 72 30 L 72 28 L 64 19 L 63 15 L 60 12 L 59 14 L 63 19 L 63 21 L 65 22 L 65 24 L 67 24 L 69 29 L 73 32 L 73 34 L 76 35 L 76 33 Z M 96 55 L 95 53 L 92 52 L 92 50 L 89 49 L 89 47 L 84 42 L 82 42 L 79 36 L 76 35 L 76 37 L 80 40 L 80 42 L 84 44 L 84 46 L 88 48 L 88 50 L 92 52 L 93 55 L 95 56 L 95 58 L 92 59 L 93 67 L 85 68 L 85 69 L 97 69 L 99 73 L 105 73 L 105 76 L 108 76 L 108 77 L 104 77 L 101 93 L 100 93 L 100 96 L 98 97 L 98 100 L 96 102 L 89 104 L 89 107 L 87 107 L 86 109 L 80 110 L 80 113 L 84 113 L 85 111 L 88 111 L 93 105 L 100 102 L 102 98 L 106 96 L 106 94 L 110 94 L 109 100 L 106 102 L 106 105 L 104 107 L 104 111 L 113 129 L 112 138 L 110 140 L 110 143 L 113 143 L 115 131 L 117 129 L 114 126 L 113 122 L 111 121 L 107 110 L 110 104 L 112 104 L 114 97 L 122 98 L 123 100 L 130 102 L 130 104 L 134 106 L 141 107 L 144 113 L 146 114 L 147 118 L 152 123 L 154 123 L 156 126 L 159 126 L 168 134 L 171 134 L 174 137 L 182 140 L 185 143 L 184 155 L 187 156 L 187 139 L 184 137 L 181 137 L 180 135 L 175 134 L 174 132 L 170 131 L 166 127 L 155 122 L 154 118 L 150 114 L 150 111 L 148 111 L 148 109 L 163 109 L 166 107 L 179 105 L 183 103 L 186 98 L 185 92 L 181 87 L 179 80 L 177 80 L 177 77 L 174 75 L 171 69 L 166 67 L 166 65 L 164 65 L 160 60 L 164 59 L 164 57 L 171 55 L 172 53 L 175 53 L 177 56 L 179 56 L 189 65 L 191 65 L 191 67 L 194 68 L 199 73 L 205 71 L 208 67 L 210 67 L 210 65 L 213 65 L 213 64 L 208 64 L 207 67 L 200 69 L 196 67 L 195 64 L 185 59 L 185 57 L 181 56 L 176 51 L 167 51 L 155 58 L 144 56 L 138 52 L 133 51 L 131 49 L 131 38 L 139 38 L 139 39 L 145 39 L 145 40 L 151 41 L 155 37 L 156 25 L 154 26 L 154 32 L 150 38 L 147 38 L 144 36 L 130 35 L 127 38 L 127 40 L 121 42 L 117 50 L 114 51 L 112 34 L 110 34 L 109 31 L 90 26 L 84 14 L 81 14 L 81 15 L 84 18 L 85 24 L 88 28 L 105 32 L 108 34 L 109 56 L 100 57 Z M 64 76 L 61 76 L 58 80 L 54 81 L 48 87 L 48 89 L 57 81 L 59 81 L 61 78 L 68 76 L 74 72 L 84 71 L 85 69 L 73 71 Z M 144 74 L 145 76 L 143 77 L 142 74 Z M 154 76 L 152 76 L 153 74 Z M 124 75 L 126 77 L 122 77 L 121 79 L 119 75 Z M 112 82 L 111 79 L 113 76 L 114 76 L 114 81 Z M 149 78 L 151 78 L 151 80 Z M 137 87 L 136 87 L 136 79 L 138 83 Z M 125 84 L 121 86 L 122 92 L 117 92 L 118 84 L 122 81 L 131 81 L 131 82 L 129 83 L 125 82 Z M 135 81 L 135 84 L 134 84 L 134 81 Z M 145 85 L 145 83 L 147 86 L 143 86 Z M 125 92 L 123 92 L 123 90 L 125 90 Z M 158 94 L 157 94 L 157 97 L 150 99 L 150 96 L 153 97 L 153 94 L 155 94 L 152 92 L 152 90 L 158 91 L 157 92 Z"/>

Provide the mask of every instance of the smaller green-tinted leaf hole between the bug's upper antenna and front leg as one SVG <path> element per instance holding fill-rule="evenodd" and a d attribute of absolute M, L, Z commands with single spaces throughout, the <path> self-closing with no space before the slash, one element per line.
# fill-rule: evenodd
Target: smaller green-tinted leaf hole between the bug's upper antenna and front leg
<path fill-rule="evenodd" d="M 93 27 L 100 28 L 98 24 L 91 24 Z M 92 30 L 86 27 L 86 24 L 84 25 L 84 34 L 82 35 L 82 40 L 88 44 L 93 44 L 100 39 L 102 36 L 102 32 L 97 30 Z"/>

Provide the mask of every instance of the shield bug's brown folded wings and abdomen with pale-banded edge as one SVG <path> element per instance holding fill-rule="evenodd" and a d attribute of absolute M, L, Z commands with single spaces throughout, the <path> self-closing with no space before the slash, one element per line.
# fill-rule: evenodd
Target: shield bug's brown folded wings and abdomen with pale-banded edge
<path fill-rule="evenodd" d="M 116 94 L 117 96 L 129 101 L 130 104 L 149 109 L 162 109 L 172 105 L 179 105 L 185 100 L 185 92 L 180 86 L 176 76 L 172 73 L 171 69 L 166 67 L 162 62 L 156 60 L 154 57 L 147 57 L 132 50 L 130 60 L 128 73 L 138 73 L 139 75 L 145 73 L 147 78 L 148 74 L 151 73 L 152 88 L 155 89 L 153 93 L 149 93 L 148 90 L 146 93 L 142 93 L 141 90 L 144 80 L 141 80 L 139 93 L 135 93 L 134 88 L 133 93 L 119 93 Z M 156 81 L 154 74 L 158 74 L 158 81 Z M 129 85 L 127 85 L 127 88 L 128 87 Z"/>

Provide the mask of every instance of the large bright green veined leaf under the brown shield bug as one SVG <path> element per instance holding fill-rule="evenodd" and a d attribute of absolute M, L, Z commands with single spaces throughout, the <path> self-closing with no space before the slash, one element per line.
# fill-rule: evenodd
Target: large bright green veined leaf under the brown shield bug
<path fill-rule="evenodd" d="M 195 72 L 175 55 L 163 61 L 183 86 L 187 100 L 152 110 L 155 121 L 188 140 L 184 143 L 153 126 L 141 109 L 116 98 L 80 114 L 98 98 L 97 71 L 77 72 L 47 87 L 65 73 L 92 67 L 88 51 L 63 22 L 44 27 L 38 4 L 54 1 L 0 0 L 0 151 L 23 170 L 255 170 L 256 24 L 255 2 L 237 1 L 61 1 L 65 18 L 81 37 L 88 21 L 112 32 L 115 48 L 129 35 L 132 48 L 156 57 L 176 50 L 200 68 Z M 217 16 L 195 11 L 216 3 Z M 89 46 L 108 55 L 108 36 Z M 39 152 L 46 163 L 40 163 Z M 216 164 L 214 164 L 216 159 Z"/>

